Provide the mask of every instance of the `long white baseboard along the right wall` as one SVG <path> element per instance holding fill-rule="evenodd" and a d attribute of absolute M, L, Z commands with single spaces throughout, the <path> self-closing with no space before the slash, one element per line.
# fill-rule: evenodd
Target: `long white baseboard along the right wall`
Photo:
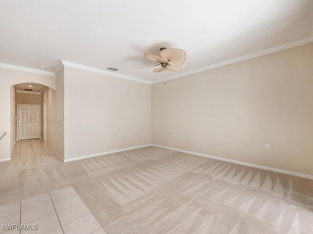
<path fill-rule="evenodd" d="M 217 159 L 217 160 L 221 160 L 221 161 L 226 161 L 226 162 L 231 162 L 231 163 L 236 163 L 236 164 L 240 164 L 240 165 L 244 165 L 244 166 L 248 166 L 248 167 L 254 167 L 254 168 L 268 170 L 268 171 L 272 171 L 272 172 L 283 173 L 283 174 L 287 174 L 287 175 L 291 175 L 291 176 L 298 176 L 298 177 L 302 177 L 302 178 L 313 179 L 313 176 L 311 176 L 311 175 L 302 174 L 302 173 L 298 173 L 298 172 L 291 172 L 291 171 L 287 171 L 287 170 L 283 170 L 283 169 L 266 167 L 266 166 L 257 165 L 257 164 L 253 164 L 253 163 L 232 160 L 232 159 L 228 159 L 228 158 L 224 158 L 224 157 L 217 157 L 217 156 L 211 156 L 211 155 L 191 152 L 191 151 L 187 151 L 187 150 L 180 150 L 180 149 L 167 147 L 167 146 L 163 146 L 163 145 L 156 145 L 156 144 L 152 144 L 152 145 L 159 147 L 159 148 L 179 151 L 179 152 L 186 153 L 186 154 L 197 155 L 197 156 L 202 156 L 202 157 L 209 157 L 209 158 L 213 158 L 213 159 Z"/>

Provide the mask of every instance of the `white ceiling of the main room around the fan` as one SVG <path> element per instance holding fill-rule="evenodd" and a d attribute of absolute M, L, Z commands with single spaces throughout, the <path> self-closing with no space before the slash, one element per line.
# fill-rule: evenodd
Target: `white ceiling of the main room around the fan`
<path fill-rule="evenodd" d="M 142 55 L 160 47 L 184 49 L 186 72 L 312 29 L 312 0 L 1 0 L 0 62 L 55 71 L 62 59 L 158 80 L 163 73 L 137 67 L 154 64 Z"/>

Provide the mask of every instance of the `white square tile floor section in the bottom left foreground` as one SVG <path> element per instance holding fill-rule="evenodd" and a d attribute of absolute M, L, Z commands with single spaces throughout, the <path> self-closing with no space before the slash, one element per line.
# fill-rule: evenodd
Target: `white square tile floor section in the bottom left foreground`
<path fill-rule="evenodd" d="M 38 227 L 38 230 L 20 228 L 21 234 L 105 234 L 71 186 L 0 207 L 0 223 Z M 20 231 L 6 231 L 1 226 L 0 233 L 11 234 Z"/>

